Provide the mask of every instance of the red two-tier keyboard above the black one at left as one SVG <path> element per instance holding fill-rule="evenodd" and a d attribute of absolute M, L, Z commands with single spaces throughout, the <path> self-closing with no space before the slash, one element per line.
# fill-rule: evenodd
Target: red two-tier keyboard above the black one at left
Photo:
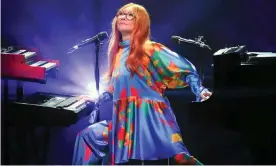
<path fill-rule="evenodd" d="M 49 77 L 56 78 L 58 60 L 40 58 L 35 49 L 19 47 L 1 48 L 1 79 L 4 79 L 4 98 L 8 95 L 8 80 L 17 80 L 17 99 L 23 98 L 23 82 L 46 84 Z"/>

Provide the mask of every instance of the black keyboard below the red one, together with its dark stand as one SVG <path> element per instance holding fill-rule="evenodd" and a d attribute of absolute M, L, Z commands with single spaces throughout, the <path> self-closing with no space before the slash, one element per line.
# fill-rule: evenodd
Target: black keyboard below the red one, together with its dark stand
<path fill-rule="evenodd" d="M 12 144 L 21 146 L 15 152 L 20 164 L 47 164 L 48 146 L 53 131 L 77 123 L 93 110 L 93 102 L 76 96 L 44 92 L 13 102 L 6 111 L 6 121 L 18 134 Z M 97 122 L 96 118 L 91 119 L 93 123 Z M 28 143 L 30 140 L 31 144 Z M 30 157 L 27 152 L 33 154 L 32 162 L 27 160 Z M 11 162 L 18 164 L 16 161 Z"/>

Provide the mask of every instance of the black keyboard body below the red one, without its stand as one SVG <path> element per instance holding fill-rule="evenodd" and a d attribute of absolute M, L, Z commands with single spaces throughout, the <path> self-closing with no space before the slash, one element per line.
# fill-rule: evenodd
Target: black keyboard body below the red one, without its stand
<path fill-rule="evenodd" d="M 88 116 L 93 108 L 93 102 L 76 96 L 37 92 L 14 102 L 10 118 L 16 123 L 68 126 Z"/>

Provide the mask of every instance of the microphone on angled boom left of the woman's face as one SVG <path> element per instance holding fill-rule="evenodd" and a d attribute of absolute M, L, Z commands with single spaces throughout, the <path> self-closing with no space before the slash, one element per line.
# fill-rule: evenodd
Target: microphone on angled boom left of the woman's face
<path fill-rule="evenodd" d="M 96 36 L 93 36 L 91 38 L 88 38 L 86 40 L 83 40 L 81 41 L 79 44 L 73 46 L 72 48 L 69 49 L 68 53 L 72 53 L 74 52 L 75 50 L 85 46 L 85 45 L 88 45 L 88 44 L 91 44 L 91 43 L 94 43 L 96 41 L 103 41 L 105 40 L 106 38 L 108 38 L 108 34 L 107 32 L 100 32 L 98 33 Z"/>

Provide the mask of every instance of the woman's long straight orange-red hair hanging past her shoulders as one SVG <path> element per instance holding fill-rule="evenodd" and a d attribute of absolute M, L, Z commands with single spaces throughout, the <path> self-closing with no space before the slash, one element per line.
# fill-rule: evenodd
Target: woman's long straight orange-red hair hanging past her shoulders
<path fill-rule="evenodd" d="M 140 65 L 146 65 L 147 56 L 144 51 L 144 44 L 150 37 L 150 17 L 147 10 L 138 4 L 128 3 L 121 7 L 117 14 L 125 8 L 132 7 L 135 14 L 134 29 L 130 39 L 130 55 L 126 60 L 127 68 L 130 70 L 131 75 L 138 73 Z M 116 14 L 116 15 L 117 15 Z M 117 28 L 117 17 L 115 16 L 112 21 L 112 33 L 110 35 L 109 46 L 108 46 L 108 59 L 109 59 L 109 70 L 108 79 L 112 77 L 113 68 L 115 65 L 115 56 L 119 51 L 119 43 L 121 42 L 122 36 Z"/>

